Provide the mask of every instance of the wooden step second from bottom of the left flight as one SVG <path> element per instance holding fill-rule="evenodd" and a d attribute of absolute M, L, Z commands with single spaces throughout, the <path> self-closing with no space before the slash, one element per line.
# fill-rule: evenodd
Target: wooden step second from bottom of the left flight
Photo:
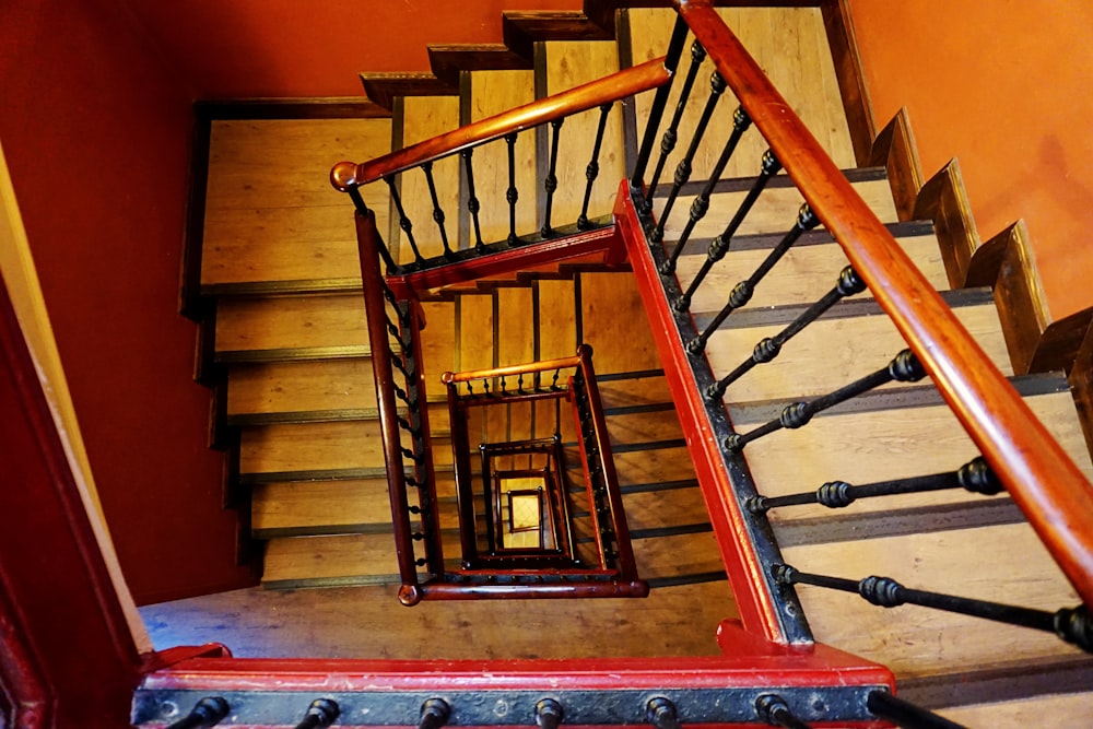
<path fill-rule="evenodd" d="M 387 480 L 267 483 L 250 492 L 250 527 L 258 539 L 275 532 L 378 525 L 390 531 Z"/>

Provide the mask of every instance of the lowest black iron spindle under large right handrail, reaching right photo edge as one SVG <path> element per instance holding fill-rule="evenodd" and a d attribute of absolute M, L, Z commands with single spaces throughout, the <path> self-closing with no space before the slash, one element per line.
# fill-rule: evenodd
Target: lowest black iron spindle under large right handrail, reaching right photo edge
<path fill-rule="evenodd" d="M 1032 627 L 1037 631 L 1055 633 L 1062 640 L 1073 644 L 1086 652 L 1093 652 L 1093 615 L 1090 615 L 1089 610 L 1083 604 L 1048 612 L 941 592 L 916 590 L 904 587 L 891 577 L 870 576 L 853 580 L 800 572 L 786 564 L 774 565 L 772 571 L 775 580 L 781 585 L 812 585 L 843 592 L 857 592 L 868 602 L 881 608 L 915 604 L 973 618 L 984 618 L 1009 625 Z"/>

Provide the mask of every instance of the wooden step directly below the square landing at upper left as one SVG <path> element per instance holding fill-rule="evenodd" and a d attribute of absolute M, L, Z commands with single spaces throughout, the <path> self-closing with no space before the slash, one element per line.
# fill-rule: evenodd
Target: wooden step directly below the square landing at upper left
<path fill-rule="evenodd" d="M 221 301 L 216 307 L 216 352 L 344 351 L 369 353 L 361 295 L 279 296 Z M 298 358 L 298 357 L 294 357 Z"/>

